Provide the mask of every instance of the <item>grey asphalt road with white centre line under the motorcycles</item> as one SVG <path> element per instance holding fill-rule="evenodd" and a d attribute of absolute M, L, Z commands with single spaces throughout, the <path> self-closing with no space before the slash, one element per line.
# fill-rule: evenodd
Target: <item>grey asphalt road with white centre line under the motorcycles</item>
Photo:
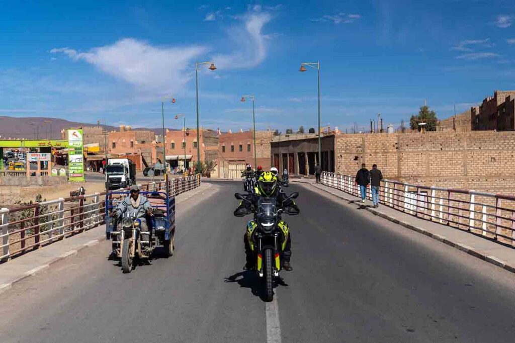
<path fill-rule="evenodd" d="M 512 342 L 515 277 L 327 195 L 301 193 L 272 303 L 244 272 L 233 193 L 178 209 L 176 254 L 130 274 L 108 242 L 0 296 L 9 342 Z"/>

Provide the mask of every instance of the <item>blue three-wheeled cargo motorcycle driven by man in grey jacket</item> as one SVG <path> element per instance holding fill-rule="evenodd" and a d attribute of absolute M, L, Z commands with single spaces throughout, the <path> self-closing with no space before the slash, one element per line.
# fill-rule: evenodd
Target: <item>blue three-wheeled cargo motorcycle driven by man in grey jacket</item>
<path fill-rule="evenodd" d="M 112 255 L 122 262 L 122 270 L 129 273 L 138 259 L 150 259 L 152 253 L 161 249 L 164 256 L 174 254 L 175 197 L 166 192 L 140 192 L 152 206 L 152 215 L 134 218 L 130 215 L 112 218 L 109 212 L 116 207 L 113 196 L 129 196 L 129 192 L 106 194 L 106 237 L 112 239 Z M 148 233 L 140 231 L 142 220 L 147 220 Z"/>

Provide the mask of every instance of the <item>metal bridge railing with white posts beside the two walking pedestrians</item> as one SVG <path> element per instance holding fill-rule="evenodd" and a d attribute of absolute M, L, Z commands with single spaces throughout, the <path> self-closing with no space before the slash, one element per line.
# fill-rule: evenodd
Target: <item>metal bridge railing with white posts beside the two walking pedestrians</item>
<path fill-rule="evenodd" d="M 355 177 L 323 172 L 321 183 L 361 196 Z M 382 180 L 380 203 L 515 247 L 515 197 Z M 367 198 L 372 199 L 370 187 Z"/>

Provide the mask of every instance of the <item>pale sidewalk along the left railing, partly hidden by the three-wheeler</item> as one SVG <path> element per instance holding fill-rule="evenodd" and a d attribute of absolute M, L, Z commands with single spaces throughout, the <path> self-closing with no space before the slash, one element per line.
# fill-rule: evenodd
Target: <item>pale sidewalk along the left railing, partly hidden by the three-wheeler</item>
<path fill-rule="evenodd" d="M 198 194 L 211 190 L 211 188 L 213 186 L 209 183 L 202 183 L 194 190 L 178 195 L 177 203 L 183 203 Z M 106 226 L 101 225 L 1 264 L 0 294 L 11 288 L 13 283 L 35 275 L 57 261 L 76 255 L 80 250 L 94 246 L 105 239 Z"/>

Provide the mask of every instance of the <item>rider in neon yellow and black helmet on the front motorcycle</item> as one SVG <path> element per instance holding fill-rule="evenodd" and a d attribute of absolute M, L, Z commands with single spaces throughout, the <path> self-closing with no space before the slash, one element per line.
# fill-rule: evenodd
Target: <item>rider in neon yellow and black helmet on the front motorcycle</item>
<path fill-rule="evenodd" d="M 250 202 L 241 201 L 234 211 L 235 216 L 244 216 L 252 212 L 258 205 L 258 200 L 260 197 L 267 198 L 276 198 L 277 204 L 279 208 L 282 208 L 284 212 L 289 214 L 299 214 L 300 210 L 293 199 L 286 199 L 287 195 L 283 191 L 280 190 L 278 185 L 278 180 L 275 175 L 270 173 L 270 171 L 264 171 L 258 179 L 258 185 L 255 187 L 254 193 L 249 194 L 247 198 Z M 255 268 L 255 256 L 250 248 L 250 244 L 248 241 L 247 233 L 244 234 L 244 243 L 245 243 L 245 255 L 246 255 L 246 264 L 244 269 L 252 269 Z M 288 238 L 286 241 L 286 246 L 283 251 L 283 269 L 292 270 L 290 263 L 291 259 L 291 232 L 288 234 Z"/>

